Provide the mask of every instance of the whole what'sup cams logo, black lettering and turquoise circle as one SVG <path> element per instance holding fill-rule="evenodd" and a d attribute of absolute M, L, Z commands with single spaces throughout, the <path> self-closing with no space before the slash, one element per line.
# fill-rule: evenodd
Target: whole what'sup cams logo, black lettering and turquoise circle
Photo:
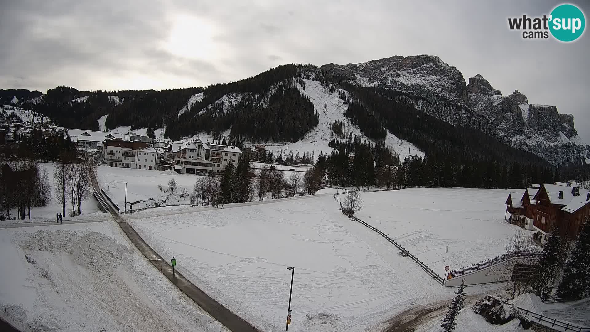
<path fill-rule="evenodd" d="M 578 39 L 586 27 L 584 13 L 576 6 L 563 4 L 556 6 L 549 15 L 543 17 L 508 18 L 510 30 L 521 30 L 524 39 L 547 39 L 549 33 L 559 41 Z"/>

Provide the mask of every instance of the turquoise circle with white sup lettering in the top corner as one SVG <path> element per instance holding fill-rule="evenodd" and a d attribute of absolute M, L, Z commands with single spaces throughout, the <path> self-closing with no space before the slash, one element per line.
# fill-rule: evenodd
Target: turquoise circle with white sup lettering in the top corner
<path fill-rule="evenodd" d="M 560 41 L 578 39 L 586 27 L 584 13 L 574 5 L 559 5 L 551 12 L 549 31 Z"/>

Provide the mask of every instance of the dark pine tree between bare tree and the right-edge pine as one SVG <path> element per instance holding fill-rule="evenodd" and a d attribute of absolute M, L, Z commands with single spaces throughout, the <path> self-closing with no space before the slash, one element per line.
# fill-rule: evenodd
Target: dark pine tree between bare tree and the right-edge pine
<path fill-rule="evenodd" d="M 535 271 L 531 292 L 545 300 L 553 291 L 553 282 L 563 261 L 563 243 L 559 228 L 553 229 L 549 240 L 543 246 L 543 255 Z"/>

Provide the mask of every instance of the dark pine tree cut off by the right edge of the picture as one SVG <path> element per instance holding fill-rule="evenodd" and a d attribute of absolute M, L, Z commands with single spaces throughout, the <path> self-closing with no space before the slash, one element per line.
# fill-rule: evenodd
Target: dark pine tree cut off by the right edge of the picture
<path fill-rule="evenodd" d="M 566 300 L 581 300 L 590 295 L 590 220 L 586 219 L 578 243 L 563 272 L 557 296 Z"/>

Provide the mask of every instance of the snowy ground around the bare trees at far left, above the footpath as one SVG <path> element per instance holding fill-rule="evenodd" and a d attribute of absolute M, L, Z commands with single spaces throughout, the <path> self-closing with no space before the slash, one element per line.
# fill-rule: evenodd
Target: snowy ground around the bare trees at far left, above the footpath
<path fill-rule="evenodd" d="M 53 170 L 55 164 L 51 163 L 40 163 L 39 164 L 39 171 L 42 172 L 42 169 L 47 170 L 49 174 L 49 184 L 51 185 L 51 201 L 47 206 L 38 206 L 38 207 L 31 207 L 31 220 L 4 220 L 0 222 L 0 225 L 4 224 L 13 224 L 13 223 L 23 223 L 23 222 L 48 222 L 48 221 L 55 221 L 55 213 L 61 213 L 61 204 L 57 203 L 55 200 L 55 190 L 54 190 L 54 183 L 53 183 Z M 68 217 L 63 216 L 63 220 L 76 220 L 76 219 L 84 219 L 89 214 L 97 214 L 97 216 L 103 215 L 99 209 L 98 203 L 96 198 L 90 196 L 87 200 L 82 202 L 82 216 L 79 217 Z M 71 210 L 71 203 L 68 202 L 65 204 L 65 214 L 68 214 L 68 211 Z M 10 217 L 17 216 L 17 209 L 12 209 L 10 213 Z"/>

